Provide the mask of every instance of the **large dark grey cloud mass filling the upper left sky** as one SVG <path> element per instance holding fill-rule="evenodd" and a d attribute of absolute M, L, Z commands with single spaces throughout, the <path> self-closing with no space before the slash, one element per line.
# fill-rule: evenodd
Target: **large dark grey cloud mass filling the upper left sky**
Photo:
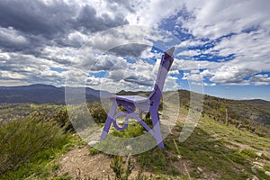
<path fill-rule="evenodd" d="M 77 45 L 74 36 L 86 39 L 85 36 L 93 32 L 128 23 L 123 14 L 112 16 L 109 10 L 99 15 L 92 4 L 76 1 L 3 0 L 0 2 L 0 26 L 5 38 L 1 39 L 21 43 L 28 39 L 31 46 L 27 48 L 30 49 L 44 44 Z M 4 47 L 4 44 L 0 43 L 0 46 Z"/>

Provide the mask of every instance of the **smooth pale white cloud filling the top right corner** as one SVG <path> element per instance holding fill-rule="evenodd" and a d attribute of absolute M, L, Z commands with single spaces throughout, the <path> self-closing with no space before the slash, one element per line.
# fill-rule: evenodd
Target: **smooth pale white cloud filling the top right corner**
<path fill-rule="evenodd" d="M 216 39 L 230 32 L 240 32 L 247 28 L 262 25 L 268 29 L 269 1 L 224 1 L 211 0 L 190 2 L 185 5 L 193 12 L 193 19 L 184 22 L 184 27 L 193 35 Z"/>

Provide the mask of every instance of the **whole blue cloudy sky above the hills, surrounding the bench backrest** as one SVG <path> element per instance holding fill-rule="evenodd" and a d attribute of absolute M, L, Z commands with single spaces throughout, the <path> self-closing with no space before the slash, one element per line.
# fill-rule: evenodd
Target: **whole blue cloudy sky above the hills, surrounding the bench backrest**
<path fill-rule="evenodd" d="M 166 90 L 270 100 L 270 1 L 1 0 L 0 86 Z"/>

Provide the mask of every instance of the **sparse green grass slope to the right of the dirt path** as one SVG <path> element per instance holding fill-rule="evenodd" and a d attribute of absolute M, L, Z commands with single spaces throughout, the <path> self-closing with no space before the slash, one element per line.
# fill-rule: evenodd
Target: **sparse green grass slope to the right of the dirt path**
<path fill-rule="evenodd" d="M 215 140 L 209 141 L 212 137 L 215 137 Z M 228 148 L 227 144 L 234 143 L 232 139 L 237 139 L 244 149 Z M 259 156 L 250 145 L 266 151 L 270 150 L 269 139 L 208 118 L 202 118 L 192 136 L 184 143 L 179 143 L 180 151 L 193 161 L 194 166 L 204 166 L 209 172 L 219 171 L 220 179 L 244 179 L 253 175 L 252 162 Z M 266 175 L 262 174 L 257 176 L 266 178 Z"/>

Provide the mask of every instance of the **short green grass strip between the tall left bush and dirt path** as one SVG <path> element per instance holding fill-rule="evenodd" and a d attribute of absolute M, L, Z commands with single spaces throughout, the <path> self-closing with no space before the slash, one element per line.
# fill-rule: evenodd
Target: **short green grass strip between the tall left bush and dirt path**
<path fill-rule="evenodd" d="M 54 179 L 69 180 L 67 174 L 55 176 L 58 171 L 58 158 L 74 146 L 85 146 L 79 137 L 67 135 L 58 146 L 41 150 L 35 156 L 30 157 L 16 170 L 10 170 L 0 175 L 0 180 L 5 179 Z"/>

